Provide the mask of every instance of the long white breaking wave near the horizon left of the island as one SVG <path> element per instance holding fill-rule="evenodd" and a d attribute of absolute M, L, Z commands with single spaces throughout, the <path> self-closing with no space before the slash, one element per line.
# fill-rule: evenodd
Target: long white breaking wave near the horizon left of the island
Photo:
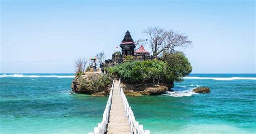
<path fill-rule="evenodd" d="M 13 74 L 13 75 L 0 75 L 0 77 L 59 77 L 59 78 L 65 78 L 65 77 L 70 77 L 73 78 L 75 77 L 74 75 L 23 75 L 23 74 Z"/>

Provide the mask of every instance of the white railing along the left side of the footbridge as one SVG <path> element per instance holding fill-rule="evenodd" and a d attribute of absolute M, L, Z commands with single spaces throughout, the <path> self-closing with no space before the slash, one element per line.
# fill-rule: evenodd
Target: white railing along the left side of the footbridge
<path fill-rule="evenodd" d="M 109 112 L 110 112 L 112 96 L 113 96 L 113 88 L 114 88 L 114 81 L 112 83 L 112 87 L 109 93 L 109 100 L 107 100 L 106 108 L 103 112 L 102 122 L 98 123 L 98 126 L 94 128 L 94 131 L 89 132 L 89 134 L 102 134 L 106 132 L 107 124 L 109 123 Z"/>

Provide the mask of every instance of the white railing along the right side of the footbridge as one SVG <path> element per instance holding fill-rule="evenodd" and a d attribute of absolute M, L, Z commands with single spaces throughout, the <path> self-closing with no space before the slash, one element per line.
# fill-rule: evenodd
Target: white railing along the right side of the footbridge
<path fill-rule="evenodd" d="M 119 85 L 120 85 L 120 79 L 119 79 Z M 132 112 L 131 106 L 129 105 L 125 95 L 124 90 L 120 86 L 120 93 L 122 96 L 122 100 L 125 107 L 126 117 L 128 118 L 129 125 L 131 126 L 131 133 L 134 134 L 150 134 L 150 130 L 144 130 L 143 125 L 139 125 L 139 122 L 135 120 L 134 114 Z"/>

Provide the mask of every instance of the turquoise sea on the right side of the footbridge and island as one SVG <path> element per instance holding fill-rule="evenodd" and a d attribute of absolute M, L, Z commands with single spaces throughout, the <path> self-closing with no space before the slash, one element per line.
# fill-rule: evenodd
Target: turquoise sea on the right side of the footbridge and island
<path fill-rule="evenodd" d="M 191 77 L 255 77 L 255 74 L 191 74 Z M 256 81 L 190 79 L 173 92 L 128 97 L 134 115 L 152 133 L 255 133 Z M 211 93 L 192 89 L 207 86 Z"/>

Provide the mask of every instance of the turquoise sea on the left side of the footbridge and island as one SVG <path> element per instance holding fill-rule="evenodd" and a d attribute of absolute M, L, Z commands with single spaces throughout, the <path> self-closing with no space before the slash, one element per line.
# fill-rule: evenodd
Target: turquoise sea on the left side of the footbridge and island
<path fill-rule="evenodd" d="M 0 133 L 84 133 L 107 97 L 69 94 L 72 78 L 1 77 Z"/>

